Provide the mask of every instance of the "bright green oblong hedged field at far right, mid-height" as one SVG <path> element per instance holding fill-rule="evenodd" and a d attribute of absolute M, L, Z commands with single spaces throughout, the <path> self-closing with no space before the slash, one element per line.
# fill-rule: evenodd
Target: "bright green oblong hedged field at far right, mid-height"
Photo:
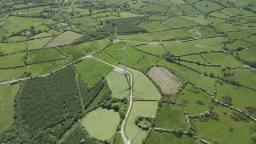
<path fill-rule="evenodd" d="M 222 64 L 223 67 L 238 67 L 240 65 L 244 65 L 242 62 L 238 61 L 230 54 L 215 52 L 203 53 L 202 55 L 211 63 Z"/>

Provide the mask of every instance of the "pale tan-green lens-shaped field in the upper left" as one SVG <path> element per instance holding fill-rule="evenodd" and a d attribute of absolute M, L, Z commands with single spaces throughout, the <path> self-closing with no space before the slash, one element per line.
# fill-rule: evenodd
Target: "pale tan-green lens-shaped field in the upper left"
<path fill-rule="evenodd" d="M 55 37 L 53 40 L 50 41 L 49 44 L 47 44 L 45 47 L 54 47 L 59 45 L 68 45 L 71 44 L 75 39 L 78 39 L 82 37 L 82 34 L 67 31 L 64 32 L 57 37 Z"/>

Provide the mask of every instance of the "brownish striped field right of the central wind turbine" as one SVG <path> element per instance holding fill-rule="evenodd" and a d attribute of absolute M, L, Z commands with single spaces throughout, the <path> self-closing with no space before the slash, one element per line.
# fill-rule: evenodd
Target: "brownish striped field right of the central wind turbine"
<path fill-rule="evenodd" d="M 178 77 L 165 68 L 153 67 L 148 71 L 148 75 L 166 94 L 174 93 L 181 84 Z"/>

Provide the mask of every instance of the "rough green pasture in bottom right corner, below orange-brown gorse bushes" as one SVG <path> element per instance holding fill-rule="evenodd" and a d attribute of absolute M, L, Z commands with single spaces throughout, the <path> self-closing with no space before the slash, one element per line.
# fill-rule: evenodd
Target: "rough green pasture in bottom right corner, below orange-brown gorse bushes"
<path fill-rule="evenodd" d="M 252 122 L 234 121 L 230 118 L 232 110 L 222 106 L 214 105 L 213 111 L 218 113 L 219 121 L 193 121 L 197 136 L 211 143 L 214 140 L 219 141 L 219 143 L 254 143 L 251 139 Z M 226 115 L 223 114 L 224 111 L 226 111 Z M 229 131 L 229 127 L 234 128 L 232 133 Z"/>

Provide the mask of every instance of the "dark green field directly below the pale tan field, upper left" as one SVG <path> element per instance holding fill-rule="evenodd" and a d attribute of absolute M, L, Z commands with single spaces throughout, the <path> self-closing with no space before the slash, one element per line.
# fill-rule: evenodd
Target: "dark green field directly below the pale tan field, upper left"
<path fill-rule="evenodd" d="M 65 58 L 65 56 L 63 56 L 55 48 L 42 49 L 42 50 L 28 52 L 27 63 L 45 62 L 45 61 L 51 61 L 51 60 L 59 59 L 59 58 Z"/>

